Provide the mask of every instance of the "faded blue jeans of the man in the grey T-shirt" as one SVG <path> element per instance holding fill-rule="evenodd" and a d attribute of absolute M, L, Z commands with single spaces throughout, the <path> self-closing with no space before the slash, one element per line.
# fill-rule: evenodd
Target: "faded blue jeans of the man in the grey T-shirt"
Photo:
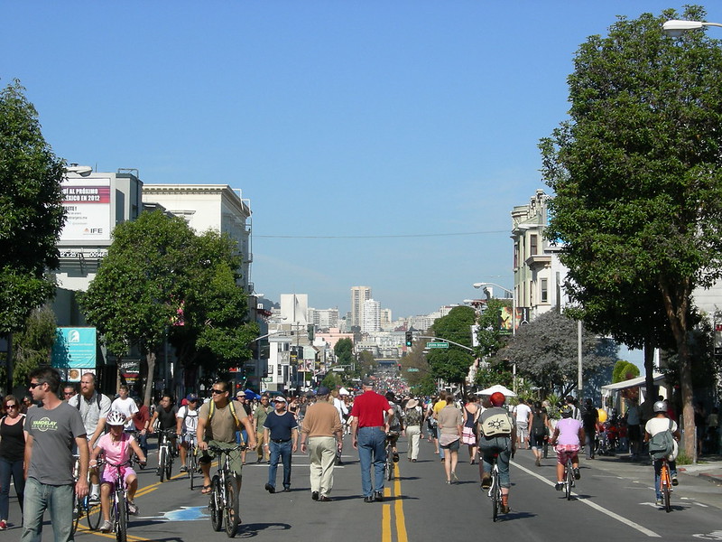
<path fill-rule="evenodd" d="M 55 542 L 73 542 L 73 484 L 52 486 L 34 478 L 25 481 L 23 537 L 21 542 L 41 542 L 42 515 L 50 511 Z"/>

